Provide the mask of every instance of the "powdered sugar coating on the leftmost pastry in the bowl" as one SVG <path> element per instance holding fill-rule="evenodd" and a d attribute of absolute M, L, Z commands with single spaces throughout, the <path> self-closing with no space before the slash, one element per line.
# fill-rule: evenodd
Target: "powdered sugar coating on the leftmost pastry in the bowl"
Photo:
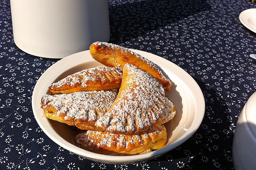
<path fill-rule="evenodd" d="M 56 109 L 56 115 L 65 114 L 65 119 L 97 120 L 113 105 L 117 92 L 87 91 L 60 95 L 44 95 L 42 108 L 48 106 Z M 49 113 L 50 114 L 50 113 Z"/>

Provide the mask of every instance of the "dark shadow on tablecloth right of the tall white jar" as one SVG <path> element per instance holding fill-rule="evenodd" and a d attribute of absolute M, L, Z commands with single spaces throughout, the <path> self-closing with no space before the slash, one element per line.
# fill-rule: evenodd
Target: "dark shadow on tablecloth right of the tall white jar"
<path fill-rule="evenodd" d="M 205 0 L 145 0 L 109 4 L 111 39 L 125 41 L 211 8 Z M 146 10 L 145 10 L 146 9 Z M 186 24 L 181 22 L 181 24 Z"/>

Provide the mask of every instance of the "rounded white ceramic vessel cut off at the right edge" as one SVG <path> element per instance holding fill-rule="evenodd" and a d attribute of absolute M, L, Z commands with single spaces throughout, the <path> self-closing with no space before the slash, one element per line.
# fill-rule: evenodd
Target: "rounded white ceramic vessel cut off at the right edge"
<path fill-rule="evenodd" d="M 236 170 L 256 169 L 256 92 L 248 99 L 237 120 L 232 155 Z"/>

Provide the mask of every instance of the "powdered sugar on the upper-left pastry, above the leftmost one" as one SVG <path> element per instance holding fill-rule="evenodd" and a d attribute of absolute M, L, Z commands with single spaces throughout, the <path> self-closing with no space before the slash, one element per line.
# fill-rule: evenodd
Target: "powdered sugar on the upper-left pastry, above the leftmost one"
<path fill-rule="evenodd" d="M 80 84 L 81 87 L 87 87 L 88 82 L 94 82 L 98 79 L 101 81 L 108 81 L 105 73 L 114 73 L 119 78 L 122 78 L 122 72 L 115 67 L 98 66 L 90 69 L 85 69 L 77 73 L 71 74 L 56 83 L 51 84 L 51 88 L 59 88 L 64 84 L 68 86 L 74 86 L 75 84 Z M 111 75 L 111 74 L 110 74 Z"/>

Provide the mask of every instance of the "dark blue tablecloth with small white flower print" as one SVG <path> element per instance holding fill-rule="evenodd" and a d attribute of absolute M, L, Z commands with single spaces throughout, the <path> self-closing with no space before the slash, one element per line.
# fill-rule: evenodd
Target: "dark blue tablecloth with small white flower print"
<path fill-rule="evenodd" d="M 183 68 L 199 84 L 206 110 L 195 134 L 167 154 L 143 163 L 108 165 L 59 147 L 39 128 L 31 108 L 33 88 L 58 60 L 31 56 L 15 45 L 10 2 L 1 1 L 0 169 L 234 169 L 235 125 L 256 88 L 255 60 L 249 57 L 256 54 L 255 34 L 238 16 L 255 7 L 239 0 L 109 1 L 110 42 Z"/>

